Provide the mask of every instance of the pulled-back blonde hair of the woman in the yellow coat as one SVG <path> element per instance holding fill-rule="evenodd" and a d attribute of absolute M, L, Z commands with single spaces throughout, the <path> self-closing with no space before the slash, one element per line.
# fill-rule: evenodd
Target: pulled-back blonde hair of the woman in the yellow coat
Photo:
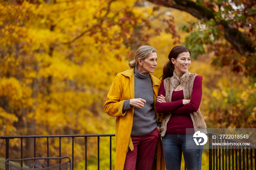
<path fill-rule="evenodd" d="M 145 59 L 148 57 L 151 53 L 157 53 L 157 50 L 150 46 L 141 46 L 138 48 L 138 50 L 135 53 L 135 59 L 129 62 L 129 67 L 132 69 L 138 65 L 138 59 Z"/>

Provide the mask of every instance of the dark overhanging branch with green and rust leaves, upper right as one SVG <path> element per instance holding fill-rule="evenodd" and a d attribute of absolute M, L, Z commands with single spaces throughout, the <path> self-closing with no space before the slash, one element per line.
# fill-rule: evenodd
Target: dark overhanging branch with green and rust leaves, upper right
<path fill-rule="evenodd" d="M 194 57 L 213 52 L 213 64 L 256 77 L 256 2 L 254 0 L 148 0 L 198 20 L 181 26 L 190 33 L 184 45 Z"/>

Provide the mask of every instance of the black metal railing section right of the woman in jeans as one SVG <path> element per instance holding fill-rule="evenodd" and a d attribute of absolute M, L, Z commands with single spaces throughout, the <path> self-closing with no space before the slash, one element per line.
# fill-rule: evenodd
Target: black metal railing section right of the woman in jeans
<path fill-rule="evenodd" d="M 248 146 L 247 143 L 234 139 L 220 139 L 219 134 L 212 132 L 208 132 L 208 136 L 209 170 L 255 170 L 255 145 Z M 220 144 L 216 145 L 216 143 Z"/>

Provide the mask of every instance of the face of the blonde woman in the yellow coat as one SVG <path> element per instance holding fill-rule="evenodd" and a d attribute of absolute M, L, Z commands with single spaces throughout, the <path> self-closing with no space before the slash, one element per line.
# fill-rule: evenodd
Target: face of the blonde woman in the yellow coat
<path fill-rule="evenodd" d="M 138 70 L 141 74 L 154 73 L 155 67 L 157 66 L 157 53 L 152 52 L 144 60 L 139 58 L 138 62 Z"/>

